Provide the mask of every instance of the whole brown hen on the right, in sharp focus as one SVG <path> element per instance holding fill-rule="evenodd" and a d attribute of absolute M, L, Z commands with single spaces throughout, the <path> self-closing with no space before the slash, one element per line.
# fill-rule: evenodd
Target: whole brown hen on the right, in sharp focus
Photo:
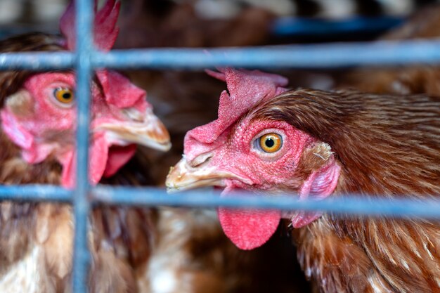
<path fill-rule="evenodd" d="M 438 198 L 440 98 L 284 88 L 258 71 L 209 72 L 226 81 L 219 117 L 186 134 L 170 190 L 202 186 L 294 193 Z M 297 257 L 321 292 L 439 292 L 440 228 L 424 219 L 218 209 L 235 245 L 266 242 L 288 219 Z"/>

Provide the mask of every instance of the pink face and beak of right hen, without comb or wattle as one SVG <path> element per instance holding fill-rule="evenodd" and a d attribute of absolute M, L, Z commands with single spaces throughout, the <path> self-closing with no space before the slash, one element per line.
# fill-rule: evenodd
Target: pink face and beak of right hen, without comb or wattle
<path fill-rule="evenodd" d="M 247 117 L 221 134 L 211 148 L 188 146 L 190 151 L 177 168 L 193 171 L 193 175 L 175 178 L 170 187 L 184 190 L 209 183 L 267 191 L 278 190 L 278 185 L 289 188 L 295 185 L 292 172 L 308 140 L 309 136 L 285 122 L 250 122 Z M 204 147 L 207 149 L 202 153 L 195 150 Z"/>

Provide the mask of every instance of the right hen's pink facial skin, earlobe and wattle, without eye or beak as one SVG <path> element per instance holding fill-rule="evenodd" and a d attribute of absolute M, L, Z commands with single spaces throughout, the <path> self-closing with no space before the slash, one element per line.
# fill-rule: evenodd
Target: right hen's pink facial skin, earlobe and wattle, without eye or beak
<path fill-rule="evenodd" d="M 283 137 L 283 145 L 277 152 L 265 153 L 255 147 L 254 141 L 268 133 Z M 231 134 L 233 136 L 231 137 Z M 226 186 L 222 196 L 233 195 L 234 190 L 279 192 L 280 187 L 299 190 L 300 200 L 311 196 L 327 197 L 336 187 L 339 167 L 332 159 L 328 166 L 313 172 L 305 181 L 295 177 L 300 156 L 307 145 L 316 140 L 286 122 L 243 120 L 238 126 L 219 136 L 210 145 L 205 169 L 231 174 L 224 179 Z M 204 150 L 209 145 L 192 145 L 191 150 Z M 185 153 L 198 157 L 193 153 Z M 235 178 L 234 178 L 235 177 Z M 281 190 L 282 191 L 282 190 Z M 219 208 L 219 220 L 226 235 L 241 249 L 253 249 L 263 245 L 275 232 L 282 217 L 280 211 L 240 210 Z M 305 226 L 321 216 L 319 212 L 298 211 L 291 216 L 295 228 Z"/>

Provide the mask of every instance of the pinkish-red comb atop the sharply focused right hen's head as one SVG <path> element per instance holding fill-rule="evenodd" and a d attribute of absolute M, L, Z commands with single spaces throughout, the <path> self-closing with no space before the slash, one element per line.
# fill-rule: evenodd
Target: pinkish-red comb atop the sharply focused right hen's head
<path fill-rule="evenodd" d="M 201 143 L 213 143 L 254 105 L 286 91 L 282 86 L 287 84 L 287 79 L 280 75 L 233 68 L 222 68 L 219 71 L 206 70 L 207 74 L 223 80 L 228 86 L 229 93 L 223 91 L 220 96 L 219 118 L 188 131 L 186 142 L 195 139 Z"/>

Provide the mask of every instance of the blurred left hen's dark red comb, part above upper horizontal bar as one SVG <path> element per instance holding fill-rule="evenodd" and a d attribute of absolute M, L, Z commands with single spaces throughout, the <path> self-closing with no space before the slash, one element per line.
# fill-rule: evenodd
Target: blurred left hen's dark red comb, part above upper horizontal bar
<path fill-rule="evenodd" d="M 93 41 L 96 48 L 101 51 L 109 51 L 115 44 L 117 34 L 119 32 L 116 26 L 117 17 L 119 15 L 119 1 L 108 0 L 105 2 L 95 15 L 93 22 Z M 96 0 L 94 5 L 96 12 Z M 60 19 L 60 30 L 65 37 L 65 47 L 69 50 L 75 49 L 75 0 L 72 0 Z"/>

